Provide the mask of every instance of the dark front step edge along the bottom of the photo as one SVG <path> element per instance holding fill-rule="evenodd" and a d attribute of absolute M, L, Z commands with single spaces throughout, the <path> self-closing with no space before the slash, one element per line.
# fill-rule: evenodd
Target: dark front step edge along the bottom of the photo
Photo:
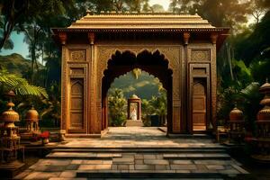
<path fill-rule="evenodd" d="M 238 176 L 239 174 L 231 175 Z M 186 171 L 186 170 L 99 170 L 97 171 L 78 171 L 76 173 L 76 177 L 84 177 L 87 179 L 94 178 L 138 178 L 138 179 L 146 179 L 146 178 L 166 178 L 166 179 L 228 179 L 228 175 L 223 174 L 217 171 L 211 170 L 199 170 L 199 171 Z M 202 178 L 203 177 L 203 178 Z"/>

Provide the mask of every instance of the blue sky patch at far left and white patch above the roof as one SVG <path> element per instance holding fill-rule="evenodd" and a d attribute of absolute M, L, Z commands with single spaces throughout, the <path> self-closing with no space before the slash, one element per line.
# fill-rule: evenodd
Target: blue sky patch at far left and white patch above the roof
<path fill-rule="evenodd" d="M 165 10 L 168 9 L 170 4 L 169 0 L 149 0 L 149 4 L 161 4 Z M 2 49 L 0 55 L 10 55 L 12 53 L 18 53 L 23 56 L 23 58 L 28 58 L 29 50 L 28 45 L 23 42 L 23 33 L 17 34 L 17 32 L 12 32 L 11 39 L 14 41 L 14 49 Z"/>

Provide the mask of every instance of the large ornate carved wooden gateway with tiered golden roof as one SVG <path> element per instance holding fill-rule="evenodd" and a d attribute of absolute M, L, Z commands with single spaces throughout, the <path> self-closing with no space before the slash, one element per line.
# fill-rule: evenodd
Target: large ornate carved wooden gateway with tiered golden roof
<path fill-rule="evenodd" d="M 107 91 L 133 68 L 166 88 L 169 134 L 215 128 L 216 49 L 227 28 L 197 14 L 87 14 L 52 30 L 62 46 L 61 129 L 67 135 L 103 134 Z"/>

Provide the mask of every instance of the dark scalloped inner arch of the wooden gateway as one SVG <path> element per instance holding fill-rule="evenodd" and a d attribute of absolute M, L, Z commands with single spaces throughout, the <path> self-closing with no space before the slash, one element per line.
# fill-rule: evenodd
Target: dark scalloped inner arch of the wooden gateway
<path fill-rule="evenodd" d="M 107 119 L 107 92 L 114 78 L 130 72 L 134 68 L 140 68 L 152 76 L 156 76 L 167 92 L 167 128 L 172 131 L 172 74 L 168 67 L 168 60 L 158 50 L 150 52 L 141 51 L 138 55 L 130 50 L 121 52 L 116 50 L 112 58 L 108 60 L 107 68 L 103 71 L 102 78 L 102 130 L 108 127 Z"/>

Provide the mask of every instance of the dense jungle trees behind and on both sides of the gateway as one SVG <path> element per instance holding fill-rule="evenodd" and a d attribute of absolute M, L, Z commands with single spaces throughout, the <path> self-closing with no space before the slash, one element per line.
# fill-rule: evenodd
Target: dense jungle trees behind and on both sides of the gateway
<path fill-rule="evenodd" d="M 170 13 L 199 14 L 215 26 L 230 28 L 230 36 L 217 59 L 220 123 L 228 120 L 229 111 L 234 103 L 238 103 L 238 107 L 247 112 L 248 127 L 253 127 L 256 110 L 260 108 L 258 102 L 261 97 L 257 89 L 266 82 L 266 77 L 270 77 L 269 7 L 268 0 L 170 0 L 167 10 Z M 13 58 L 4 59 L 11 61 L 5 67 L 1 57 L 1 73 L 9 76 L 8 73 L 20 71 L 16 77 L 21 81 L 26 79 L 23 80 L 25 89 L 37 86 L 38 94 L 42 95 L 37 96 L 38 91 L 34 96 L 27 94 L 22 102 L 31 103 L 32 98 L 38 99 L 34 102 L 43 119 L 52 120 L 55 125 L 58 125 L 60 113 L 60 52 L 51 38 L 50 28 L 67 27 L 85 15 L 86 10 L 94 14 L 101 11 L 166 12 L 158 4 L 149 5 L 148 0 L 0 0 L 0 50 L 14 48 L 10 36 L 15 31 L 24 34 L 30 54 L 29 67 L 19 67 L 23 70 L 14 70 Z M 3 90 L 5 84 L 0 85 Z M 26 92 L 33 89 L 28 90 Z M 45 90 L 48 95 L 45 95 Z M 2 102 L 5 100 L 3 94 L 1 91 Z M 26 95 L 25 92 L 22 95 Z M 16 101 L 22 103 L 20 97 Z M 25 105 L 25 109 L 27 106 L 30 104 Z"/>

